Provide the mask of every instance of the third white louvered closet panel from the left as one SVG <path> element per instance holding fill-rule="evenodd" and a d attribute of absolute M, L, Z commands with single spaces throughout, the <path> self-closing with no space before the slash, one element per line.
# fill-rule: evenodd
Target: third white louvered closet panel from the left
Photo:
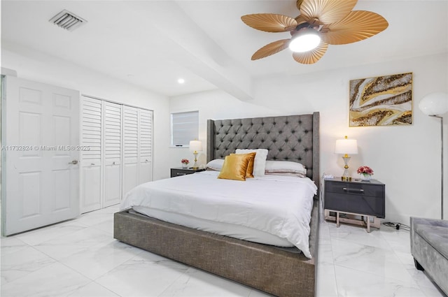
<path fill-rule="evenodd" d="M 139 109 L 123 106 L 123 197 L 139 184 Z"/>

